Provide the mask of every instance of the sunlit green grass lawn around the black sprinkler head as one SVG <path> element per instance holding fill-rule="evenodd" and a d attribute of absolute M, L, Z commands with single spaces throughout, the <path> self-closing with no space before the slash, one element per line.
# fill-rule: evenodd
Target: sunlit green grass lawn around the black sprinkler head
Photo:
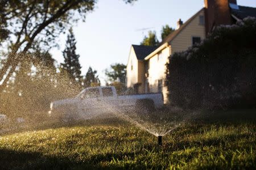
<path fill-rule="evenodd" d="M 190 122 L 164 136 L 163 147 L 123 122 L 60 126 L 2 135 L 0 169 L 256 168 L 253 121 Z"/>

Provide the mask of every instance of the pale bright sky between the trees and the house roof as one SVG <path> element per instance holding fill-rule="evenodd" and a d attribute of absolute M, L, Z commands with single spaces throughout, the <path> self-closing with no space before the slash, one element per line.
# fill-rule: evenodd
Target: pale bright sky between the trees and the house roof
<path fill-rule="evenodd" d="M 255 0 L 237 0 L 237 4 L 256 7 Z M 163 25 L 176 28 L 177 20 L 185 22 L 203 7 L 204 0 L 138 0 L 133 5 L 122 0 L 98 0 L 85 22 L 73 25 L 82 75 L 91 66 L 105 84 L 104 70 L 112 63 L 126 65 L 131 44 L 140 44 L 149 30 L 156 31 L 160 40 Z M 63 62 L 66 38 L 60 35 L 60 48 L 51 50 L 58 63 Z"/>

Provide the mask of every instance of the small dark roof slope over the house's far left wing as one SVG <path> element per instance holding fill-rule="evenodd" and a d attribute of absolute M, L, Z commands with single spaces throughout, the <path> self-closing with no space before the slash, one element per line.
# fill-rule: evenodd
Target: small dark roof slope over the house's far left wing
<path fill-rule="evenodd" d="M 137 59 L 143 60 L 148 54 L 153 52 L 158 46 L 132 45 Z"/>

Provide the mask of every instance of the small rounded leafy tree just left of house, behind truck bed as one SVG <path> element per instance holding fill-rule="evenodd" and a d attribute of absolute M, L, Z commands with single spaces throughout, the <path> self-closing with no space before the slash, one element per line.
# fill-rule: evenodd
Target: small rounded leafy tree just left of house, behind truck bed
<path fill-rule="evenodd" d="M 105 70 L 105 75 L 108 77 L 110 82 L 121 82 L 125 83 L 126 78 L 126 65 L 122 63 L 115 63 L 110 65 L 110 69 Z"/>

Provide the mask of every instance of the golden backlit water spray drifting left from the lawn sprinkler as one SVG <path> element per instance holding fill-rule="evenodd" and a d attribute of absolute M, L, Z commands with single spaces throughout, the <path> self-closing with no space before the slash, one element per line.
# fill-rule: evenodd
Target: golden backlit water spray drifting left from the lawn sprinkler
<path fill-rule="evenodd" d="M 57 73 L 56 69 L 44 65 L 36 57 L 34 60 L 36 62 L 28 59 L 23 63 L 23 67 L 16 69 L 16 73 L 9 80 L 8 87 L 1 94 L 0 114 L 6 114 L 9 120 L 0 120 L 0 134 L 13 129 L 47 124 L 46 122 L 52 119 L 47 114 L 51 101 L 75 97 L 82 90 L 81 84 L 71 83 L 68 74 Z M 174 107 L 147 113 L 135 111 L 134 108 L 119 108 L 118 105 L 108 102 L 95 102 L 94 105 L 100 107 L 104 113 L 89 116 L 88 112 L 84 112 L 80 118 L 94 119 L 114 116 L 156 137 L 170 133 L 192 117 L 191 113 L 185 113 L 182 109 Z M 71 114 L 74 117 L 77 116 L 75 112 Z M 51 121 L 58 122 L 59 120 Z"/>

